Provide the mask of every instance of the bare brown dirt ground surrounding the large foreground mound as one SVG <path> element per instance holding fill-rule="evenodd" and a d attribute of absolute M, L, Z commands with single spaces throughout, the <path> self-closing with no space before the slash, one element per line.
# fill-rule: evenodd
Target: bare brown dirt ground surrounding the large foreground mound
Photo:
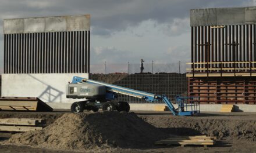
<path fill-rule="evenodd" d="M 69 110 L 54 112 L 0 112 L 0 118 L 45 118 L 47 126 Z M 91 113 L 91 112 L 84 112 Z M 0 152 L 256 152 L 256 113 L 228 112 L 207 113 L 198 116 L 173 116 L 170 112 L 135 111 L 145 122 L 166 135 L 217 136 L 216 144 L 202 146 L 151 145 L 131 148 L 90 148 L 88 150 L 61 150 L 37 145 L 14 144 L 9 141 L 13 133 L 0 132 Z M 151 134 L 151 133 L 148 133 Z"/>

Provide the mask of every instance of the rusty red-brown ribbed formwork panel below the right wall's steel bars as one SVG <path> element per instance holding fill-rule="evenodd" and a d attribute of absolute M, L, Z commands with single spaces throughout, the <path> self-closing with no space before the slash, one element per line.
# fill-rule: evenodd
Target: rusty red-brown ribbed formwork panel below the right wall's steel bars
<path fill-rule="evenodd" d="M 190 97 L 199 97 L 200 103 L 256 103 L 256 81 L 240 78 L 189 78 Z"/>

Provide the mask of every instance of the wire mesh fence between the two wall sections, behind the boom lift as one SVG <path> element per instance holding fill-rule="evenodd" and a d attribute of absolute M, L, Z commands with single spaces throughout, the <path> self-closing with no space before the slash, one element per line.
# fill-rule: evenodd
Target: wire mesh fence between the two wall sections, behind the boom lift
<path fill-rule="evenodd" d="M 177 94 L 187 94 L 186 63 L 184 62 L 172 64 L 146 63 L 142 74 L 139 73 L 140 64 L 127 63 L 126 72 L 109 71 L 111 68 L 108 67 L 116 68 L 120 67 L 120 64 L 104 66 L 104 73 L 90 74 L 90 79 L 157 95 L 165 94 L 173 103 L 176 102 Z M 144 100 L 122 94 L 118 95 L 117 100 L 129 103 L 147 103 Z M 155 103 L 163 102 L 156 101 Z"/>

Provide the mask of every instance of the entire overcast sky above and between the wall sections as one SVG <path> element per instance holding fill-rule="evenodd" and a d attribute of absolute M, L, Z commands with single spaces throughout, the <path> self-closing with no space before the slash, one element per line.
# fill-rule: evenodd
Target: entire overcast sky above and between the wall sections
<path fill-rule="evenodd" d="M 190 9 L 256 6 L 256 0 L 0 0 L 2 20 L 91 14 L 91 64 L 190 59 Z M 0 36 L 0 72 L 3 34 Z"/>

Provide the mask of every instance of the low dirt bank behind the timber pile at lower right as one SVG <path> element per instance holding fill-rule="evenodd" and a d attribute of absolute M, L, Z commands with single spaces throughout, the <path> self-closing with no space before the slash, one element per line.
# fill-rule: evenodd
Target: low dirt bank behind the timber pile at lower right
<path fill-rule="evenodd" d="M 186 116 L 142 116 L 144 121 L 167 133 L 194 136 L 206 134 L 218 139 L 256 141 L 256 121 L 243 119 L 213 119 Z"/>

